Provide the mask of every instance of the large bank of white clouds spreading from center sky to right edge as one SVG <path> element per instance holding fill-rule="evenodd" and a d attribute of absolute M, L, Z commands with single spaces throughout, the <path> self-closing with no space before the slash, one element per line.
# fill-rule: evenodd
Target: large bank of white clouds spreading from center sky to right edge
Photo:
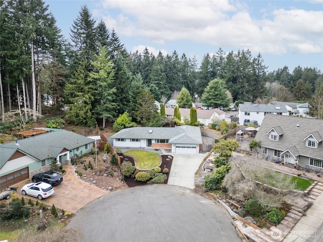
<path fill-rule="evenodd" d="M 158 44 L 186 40 L 272 54 L 323 52 L 323 11 L 276 9 L 257 19 L 248 4 L 107 0 L 101 11 L 109 11 L 102 19 L 118 35 Z M 119 14 L 113 16 L 112 9 Z"/>

